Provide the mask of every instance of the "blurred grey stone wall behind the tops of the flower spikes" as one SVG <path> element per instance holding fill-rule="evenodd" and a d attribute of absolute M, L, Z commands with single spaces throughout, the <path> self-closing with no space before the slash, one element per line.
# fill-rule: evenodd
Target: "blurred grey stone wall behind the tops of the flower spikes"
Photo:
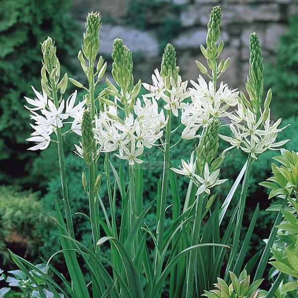
<path fill-rule="evenodd" d="M 138 28 L 131 15 L 135 7 L 132 4 L 138 3 L 145 3 L 141 9 L 143 28 Z M 223 79 L 239 88 L 246 81 L 249 68 L 250 32 L 259 34 L 265 61 L 274 60 L 279 36 L 287 30 L 290 16 L 298 14 L 298 0 L 74 0 L 73 15 L 84 24 L 88 11 L 101 11 L 101 55 L 111 59 L 114 38 L 122 38 L 133 51 L 135 76 L 142 80 L 150 80 L 153 69 L 160 65 L 164 43 L 160 36 L 169 30 L 164 20 L 178 23 L 179 30 L 171 32 L 168 41 L 177 49 L 182 78 L 196 79 L 195 60 L 205 62 L 199 45 L 205 44 L 209 13 L 214 5 L 222 7 L 222 58 L 231 58 Z M 140 10 L 140 5 L 137 7 Z"/>

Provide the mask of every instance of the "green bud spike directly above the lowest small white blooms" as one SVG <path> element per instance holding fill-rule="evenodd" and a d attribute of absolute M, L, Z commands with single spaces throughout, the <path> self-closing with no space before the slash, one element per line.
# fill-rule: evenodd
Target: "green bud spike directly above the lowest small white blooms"
<path fill-rule="evenodd" d="M 211 164 L 218 150 L 219 128 L 221 121 L 212 119 L 206 127 L 197 147 L 197 171 L 201 175 L 204 171 L 205 163 Z"/>

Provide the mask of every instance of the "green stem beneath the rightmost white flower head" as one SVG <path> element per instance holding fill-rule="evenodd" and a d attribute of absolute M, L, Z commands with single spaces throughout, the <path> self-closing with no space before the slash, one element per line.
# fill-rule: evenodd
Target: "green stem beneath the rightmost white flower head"
<path fill-rule="evenodd" d="M 247 158 L 247 167 L 246 167 L 246 171 L 245 171 L 244 179 L 243 179 L 243 183 L 242 183 L 242 189 L 241 189 L 241 194 L 240 194 L 240 206 L 239 206 L 238 213 L 237 213 L 237 221 L 236 221 L 235 233 L 234 233 L 234 237 L 233 237 L 233 245 L 232 245 L 232 249 L 231 249 L 231 254 L 230 254 L 228 266 L 227 266 L 226 272 L 225 272 L 225 280 L 229 279 L 230 268 L 232 268 L 232 266 L 234 265 L 234 261 L 237 256 L 237 251 L 238 251 L 238 246 L 239 246 L 239 238 L 240 238 L 241 226 L 242 226 L 242 219 L 243 219 L 246 195 L 247 195 L 247 189 L 248 189 L 248 182 L 249 182 L 249 177 L 250 177 L 250 172 L 251 172 L 253 161 L 254 161 L 254 159 L 251 157 L 251 155 L 249 155 Z"/>

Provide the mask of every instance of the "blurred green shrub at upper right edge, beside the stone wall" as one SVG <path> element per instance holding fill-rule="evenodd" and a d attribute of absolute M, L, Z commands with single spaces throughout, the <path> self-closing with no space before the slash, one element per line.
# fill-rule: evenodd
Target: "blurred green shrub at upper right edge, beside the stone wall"
<path fill-rule="evenodd" d="M 272 88 L 274 117 L 298 115 L 298 16 L 291 18 L 277 46 L 276 62 L 266 66 L 265 72 L 265 84 Z"/>

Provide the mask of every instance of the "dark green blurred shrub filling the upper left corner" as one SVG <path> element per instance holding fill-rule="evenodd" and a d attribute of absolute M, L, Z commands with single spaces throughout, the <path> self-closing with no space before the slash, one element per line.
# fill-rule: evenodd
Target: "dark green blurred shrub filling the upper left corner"
<path fill-rule="evenodd" d="M 30 182 L 24 166 L 36 153 L 27 151 L 29 113 L 24 96 L 40 89 L 40 42 L 56 40 L 62 72 L 75 70 L 80 31 L 71 18 L 71 0 L 1 0 L 0 4 L 0 181 Z M 78 28 L 79 29 L 79 28 Z M 64 67 L 63 67 L 64 66 Z M 63 69 L 64 68 L 64 69 Z M 14 160 L 14 166 L 9 166 Z M 28 169 L 30 170 L 30 169 Z M 29 172 L 29 171 L 28 171 Z M 28 172 L 26 174 L 28 174 Z"/>

